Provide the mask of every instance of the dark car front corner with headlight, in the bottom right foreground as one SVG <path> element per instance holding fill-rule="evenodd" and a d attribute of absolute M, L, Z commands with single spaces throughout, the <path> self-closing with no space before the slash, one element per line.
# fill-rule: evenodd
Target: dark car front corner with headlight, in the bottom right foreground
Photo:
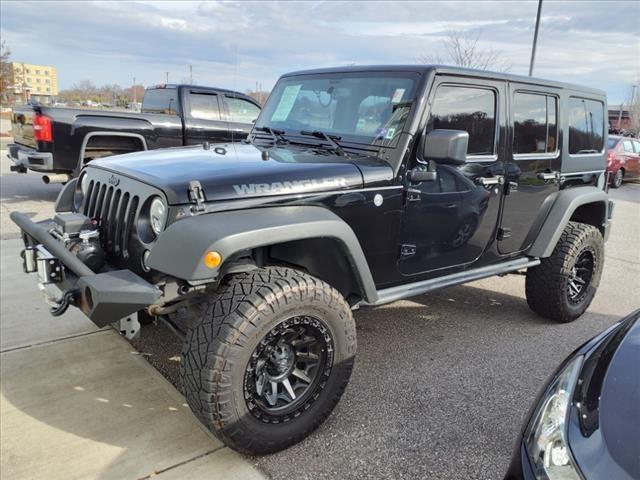
<path fill-rule="evenodd" d="M 505 480 L 640 478 L 640 310 L 573 352 L 537 399 Z"/>

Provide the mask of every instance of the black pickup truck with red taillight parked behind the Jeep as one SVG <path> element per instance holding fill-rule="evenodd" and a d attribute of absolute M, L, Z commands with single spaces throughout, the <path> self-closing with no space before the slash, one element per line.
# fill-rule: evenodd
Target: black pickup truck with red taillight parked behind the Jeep
<path fill-rule="evenodd" d="M 45 183 L 64 183 L 94 158 L 238 141 L 260 108 L 242 93 L 193 85 L 148 88 L 140 113 L 23 105 L 11 116 L 11 170 L 44 172 Z"/>

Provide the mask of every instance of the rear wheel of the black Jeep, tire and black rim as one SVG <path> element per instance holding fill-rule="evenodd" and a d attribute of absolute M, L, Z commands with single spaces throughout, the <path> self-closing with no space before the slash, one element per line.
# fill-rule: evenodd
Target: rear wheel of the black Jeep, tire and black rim
<path fill-rule="evenodd" d="M 604 266 L 604 239 L 584 223 L 569 222 L 553 253 L 527 270 L 529 307 L 558 322 L 571 322 L 591 304 Z"/>

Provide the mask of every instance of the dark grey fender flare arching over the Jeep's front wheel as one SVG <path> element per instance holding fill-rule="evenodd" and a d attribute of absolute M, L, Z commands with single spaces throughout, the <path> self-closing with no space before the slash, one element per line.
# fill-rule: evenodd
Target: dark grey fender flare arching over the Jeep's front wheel
<path fill-rule="evenodd" d="M 170 225 L 158 237 L 147 265 L 159 272 L 198 281 L 217 278 L 224 261 L 238 252 L 310 238 L 332 238 L 341 246 L 363 298 L 378 298 L 371 270 L 355 233 L 323 207 L 289 206 L 197 215 Z M 222 264 L 207 268 L 205 254 L 216 251 Z"/>

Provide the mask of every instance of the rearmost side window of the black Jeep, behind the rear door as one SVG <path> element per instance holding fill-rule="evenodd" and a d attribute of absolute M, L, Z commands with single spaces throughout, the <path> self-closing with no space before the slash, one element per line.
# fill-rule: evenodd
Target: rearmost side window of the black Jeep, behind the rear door
<path fill-rule="evenodd" d="M 569 99 L 569 153 L 598 153 L 604 143 L 604 105 L 595 100 Z"/>

